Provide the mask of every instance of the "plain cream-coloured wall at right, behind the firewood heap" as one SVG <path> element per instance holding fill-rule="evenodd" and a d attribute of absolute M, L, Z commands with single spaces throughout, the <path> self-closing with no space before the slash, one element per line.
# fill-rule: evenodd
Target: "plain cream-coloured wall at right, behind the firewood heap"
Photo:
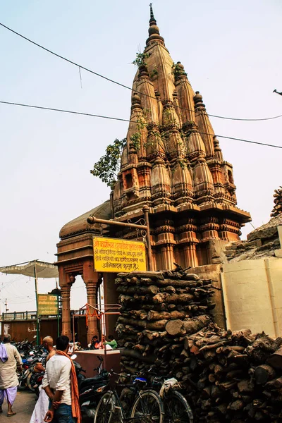
<path fill-rule="evenodd" d="M 282 259 L 223 264 L 221 278 L 228 329 L 282 335 Z"/>

